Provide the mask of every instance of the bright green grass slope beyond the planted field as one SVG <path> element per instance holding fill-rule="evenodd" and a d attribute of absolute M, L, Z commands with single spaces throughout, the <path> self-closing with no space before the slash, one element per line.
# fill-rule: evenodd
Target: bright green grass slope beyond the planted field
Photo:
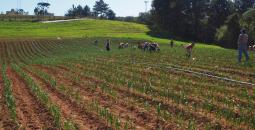
<path fill-rule="evenodd" d="M 83 20 L 62 23 L 0 22 L 1 38 L 83 38 L 126 37 L 148 38 L 149 29 L 141 24 Z"/>

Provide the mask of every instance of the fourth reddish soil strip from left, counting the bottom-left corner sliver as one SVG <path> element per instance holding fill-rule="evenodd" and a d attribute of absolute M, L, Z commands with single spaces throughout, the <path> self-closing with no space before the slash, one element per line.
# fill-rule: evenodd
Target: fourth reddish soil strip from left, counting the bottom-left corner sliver
<path fill-rule="evenodd" d="M 159 120 L 156 115 L 148 113 L 135 105 L 127 104 L 127 102 L 120 98 L 121 95 L 112 97 L 100 91 L 99 88 L 92 90 L 91 86 L 87 86 L 86 83 L 80 84 L 66 78 L 64 76 L 65 71 L 61 69 L 55 70 L 44 66 L 38 67 L 46 73 L 54 76 L 58 83 L 65 84 L 73 89 L 78 89 L 85 100 L 84 102 L 91 102 L 96 99 L 99 101 L 101 106 L 108 108 L 121 120 L 125 122 L 128 120 L 132 121 L 136 129 L 157 129 L 158 126 L 164 126 L 164 121 Z"/>

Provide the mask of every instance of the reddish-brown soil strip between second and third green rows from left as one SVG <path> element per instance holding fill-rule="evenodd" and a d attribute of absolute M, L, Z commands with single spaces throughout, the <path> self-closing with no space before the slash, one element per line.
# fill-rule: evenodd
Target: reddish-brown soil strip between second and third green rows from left
<path fill-rule="evenodd" d="M 69 97 L 52 88 L 40 77 L 29 73 L 37 84 L 49 94 L 50 100 L 59 106 L 66 119 L 71 119 L 81 130 L 105 130 L 111 129 L 106 122 L 96 114 L 88 112 L 84 106 L 73 102 Z"/>

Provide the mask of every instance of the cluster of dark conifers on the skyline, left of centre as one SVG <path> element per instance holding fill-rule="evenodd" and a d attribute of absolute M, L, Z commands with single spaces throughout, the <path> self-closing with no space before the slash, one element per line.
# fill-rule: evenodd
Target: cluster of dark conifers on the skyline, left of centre
<path fill-rule="evenodd" d="M 99 17 L 104 19 L 110 19 L 113 20 L 116 18 L 115 12 L 109 7 L 107 3 L 105 3 L 103 0 L 98 0 L 95 2 L 95 5 L 93 6 L 93 10 L 90 9 L 88 5 L 85 5 L 82 7 L 81 5 L 72 6 L 65 16 L 69 17 Z"/>

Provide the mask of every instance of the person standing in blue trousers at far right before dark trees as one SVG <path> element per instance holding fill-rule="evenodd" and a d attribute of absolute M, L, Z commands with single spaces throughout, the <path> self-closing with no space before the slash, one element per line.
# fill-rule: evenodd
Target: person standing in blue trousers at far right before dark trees
<path fill-rule="evenodd" d="M 241 34 L 238 38 L 238 62 L 242 61 L 242 54 L 245 54 L 246 62 L 249 61 L 249 54 L 248 54 L 248 34 L 246 34 L 246 30 L 242 29 Z"/>

